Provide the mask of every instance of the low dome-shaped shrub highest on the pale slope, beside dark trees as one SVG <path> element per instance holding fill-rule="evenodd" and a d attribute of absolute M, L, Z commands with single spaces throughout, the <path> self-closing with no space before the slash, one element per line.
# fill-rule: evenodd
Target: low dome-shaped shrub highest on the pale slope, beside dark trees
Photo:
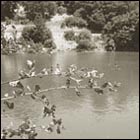
<path fill-rule="evenodd" d="M 64 20 L 64 22 L 62 23 L 61 27 L 79 27 L 79 28 L 83 28 L 87 26 L 87 22 L 80 18 L 80 17 L 68 17 Z"/>

